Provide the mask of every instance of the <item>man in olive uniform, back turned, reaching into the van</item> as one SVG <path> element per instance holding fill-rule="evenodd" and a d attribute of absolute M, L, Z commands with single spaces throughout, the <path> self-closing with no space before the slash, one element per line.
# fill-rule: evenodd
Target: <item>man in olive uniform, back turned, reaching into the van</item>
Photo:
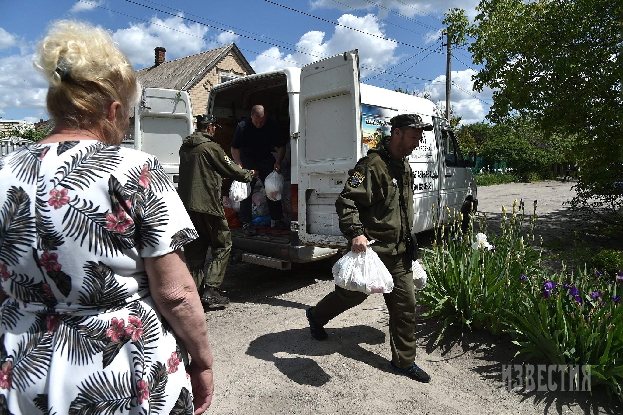
<path fill-rule="evenodd" d="M 184 138 L 179 149 L 178 194 L 199 233 L 199 238 L 184 246 L 186 266 L 193 276 L 201 301 L 228 304 L 219 289 L 225 277 L 232 238 L 221 202 L 223 177 L 250 182 L 255 170 L 240 169 L 212 141 L 219 121 L 212 114 L 197 115 L 197 131 Z M 207 248 L 212 248 L 212 263 L 204 274 Z"/>

